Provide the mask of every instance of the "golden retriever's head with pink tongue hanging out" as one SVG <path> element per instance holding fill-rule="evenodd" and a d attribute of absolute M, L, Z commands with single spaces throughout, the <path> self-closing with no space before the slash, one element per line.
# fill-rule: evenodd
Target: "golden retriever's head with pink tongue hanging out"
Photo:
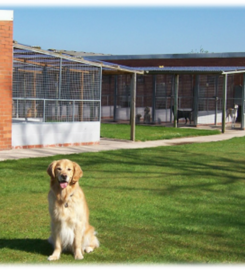
<path fill-rule="evenodd" d="M 51 184 L 56 182 L 61 189 L 74 185 L 83 175 L 81 167 L 69 159 L 53 161 L 48 166 L 47 173 L 51 176 Z"/>

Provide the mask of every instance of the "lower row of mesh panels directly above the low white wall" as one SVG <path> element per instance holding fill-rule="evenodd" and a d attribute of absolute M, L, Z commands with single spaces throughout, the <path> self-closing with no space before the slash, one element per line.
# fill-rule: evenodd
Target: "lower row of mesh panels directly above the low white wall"
<path fill-rule="evenodd" d="M 100 121 L 100 100 L 13 98 L 13 122 Z"/>

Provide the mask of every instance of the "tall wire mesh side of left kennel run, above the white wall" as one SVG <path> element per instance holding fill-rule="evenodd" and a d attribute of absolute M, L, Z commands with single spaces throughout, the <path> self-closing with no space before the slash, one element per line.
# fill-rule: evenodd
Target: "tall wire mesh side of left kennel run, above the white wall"
<path fill-rule="evenodd" d="M 101 68 L 14 49 L 13 121 L 99 121 Z"/>

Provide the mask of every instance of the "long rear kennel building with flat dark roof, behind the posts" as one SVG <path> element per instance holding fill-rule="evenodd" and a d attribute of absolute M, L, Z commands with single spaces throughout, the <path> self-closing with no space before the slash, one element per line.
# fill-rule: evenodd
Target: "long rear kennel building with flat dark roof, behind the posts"
<path fill-rule="evenodd" d="M 88 57 L 93 58 L 95 56 Z M 228 72 L 225 105 L 226 108 L 238 105 L 237 121 L 243 128 L 242 70 L 245 67 L 245 53 L 111 55 L 96 58 L 145 71 L 145 75 L 137 76 L 136 114 L 141 115 L 140 123 L 144 122 L 145 107 L 150 108 L 151 123 L 173 121 L 171 108 L 175 99 L 175 74 L 178 74 L 178 108 L 193 111 L 194 125 L 221 125 L 224 74 Z M 103 75 L 102 121 L 129 120 L 128 85 L 127 76 Z M 230 123 L 231 119 L 225 118 L 225 122 Z"/>

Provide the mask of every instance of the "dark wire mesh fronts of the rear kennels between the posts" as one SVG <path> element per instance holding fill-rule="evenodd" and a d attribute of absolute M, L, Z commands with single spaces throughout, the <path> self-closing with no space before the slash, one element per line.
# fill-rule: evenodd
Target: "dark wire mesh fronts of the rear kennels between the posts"
<path fill-rule="evenodd" d="M 130 119 L 130 75 L 106 75 L 102 84 L 102 118 L 114 121 Z M 145 123 L 145 110 L 148 108 L 147 123 L 173 121 L 174 75 L 149 74 L 137 76 L 136 122 Z M 234 76 L 228 76 L 227 108 L 234 107 Z M 195 91 L 198 98 L 195 99 Z M 197 107 L 197 124 L 221 123 L 223 106 L 223 76 L 215 74 L 180 74 L 178 89 L 178 109 L 191 111 L 194 118 L 194 102 Z M 184 121 L 184 120 L 183 120 Z"/>

